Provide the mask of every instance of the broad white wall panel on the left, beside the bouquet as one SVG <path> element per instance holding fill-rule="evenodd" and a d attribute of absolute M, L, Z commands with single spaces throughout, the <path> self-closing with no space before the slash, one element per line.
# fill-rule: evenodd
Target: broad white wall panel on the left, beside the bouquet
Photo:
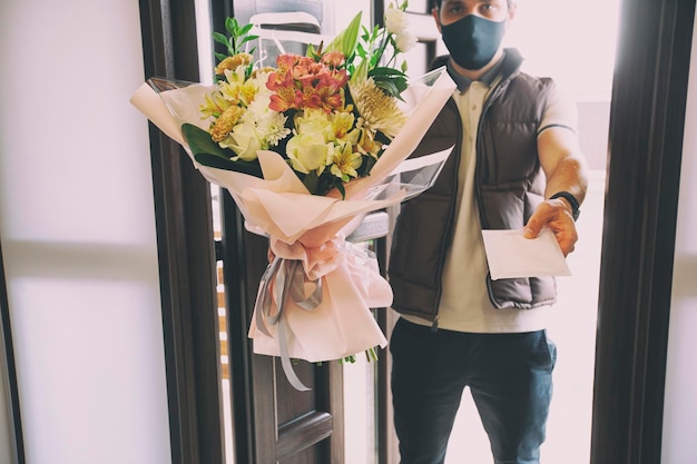
<path fill-rule="evenodd" d="M 137 0 L 0 2 L 0 237 L 29 464 L 169 463 Z"/>

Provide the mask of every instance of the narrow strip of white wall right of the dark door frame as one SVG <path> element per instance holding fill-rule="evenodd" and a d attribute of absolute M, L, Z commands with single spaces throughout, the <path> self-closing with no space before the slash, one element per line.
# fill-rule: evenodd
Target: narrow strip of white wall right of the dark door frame
<path fill-rule="evenodd" d="M 697 27 L 697 24 L 696 24 Z M 696 464 L 697 416 L 697 34 L 688 87 L 666 373 L 662 463 Z"/>

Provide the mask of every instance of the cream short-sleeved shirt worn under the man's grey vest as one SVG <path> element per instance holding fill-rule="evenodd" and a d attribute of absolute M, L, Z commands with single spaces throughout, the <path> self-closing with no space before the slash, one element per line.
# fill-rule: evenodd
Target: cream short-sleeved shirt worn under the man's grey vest
<path fill-rule="evenodd" d="M 455 90 L 453 93 L 467 138 L 462 141 L 460 154 L 455 230 L 445 258 L 438 327 L 469 333 L 539 330 L 546 327 L 546 316 L 550 306 L 534 309 L 495 309 L 487 289 L 485 279 L 489 269 L 474 196 L 474 171 L 477 126 L 491 89 L 492 87 L 485 82 L 473 81 L 465 91 Z M 569 130 L 576 130 L 577 127 L 576 105 L 559 89 L 550 95 L 538 137 L 552 126 L 567 127 Z M 415 316 L 402 317 L 416 324 L 432 325 L 431 322 Z"/>

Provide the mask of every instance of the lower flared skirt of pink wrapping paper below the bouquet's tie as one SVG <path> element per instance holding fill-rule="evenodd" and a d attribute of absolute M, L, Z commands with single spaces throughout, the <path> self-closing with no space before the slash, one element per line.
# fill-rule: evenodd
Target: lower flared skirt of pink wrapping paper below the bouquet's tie
<path fill-rule="evenodd" d="M 357 254 L 355 245 L 335 237 L 318 248 L 300 244 L 288 247 L 272 239 L 277 257 L 302 260 L 308 279 L 322 279 L 322 303 L 312 310 L 285 302 L 287 354 L 291 358 L 321 362 L 342 359 L 387 344 L 369 308 L 392 304 L 392 289 L 379 273 L 374 258 Z M 278 303 L 276 302 L 276 306 Z M 258 307 L 255 310 L 261 310 Z M 256 315 L 255 315 L 256 316 Z M 278 326 L 257 327 L 254 317 L 249 337 L 257 354 L 282 356 Z M 268 334 L 268 335 L 267 335 Z"/>

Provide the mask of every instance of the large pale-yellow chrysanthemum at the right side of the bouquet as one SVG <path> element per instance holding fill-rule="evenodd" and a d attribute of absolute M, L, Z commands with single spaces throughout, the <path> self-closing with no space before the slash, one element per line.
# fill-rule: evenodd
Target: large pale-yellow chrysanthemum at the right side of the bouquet
<path fill-rule="evenodd" d="M 377 88 L 373 79 L 351 83 L 350 89 L 355 107 L 363 119 L 363 127 L 371 136 L 376 131 L 390 138 L 397 135 L 406 121 L 406 116 L 397 107 L 394 98 Z"/>

